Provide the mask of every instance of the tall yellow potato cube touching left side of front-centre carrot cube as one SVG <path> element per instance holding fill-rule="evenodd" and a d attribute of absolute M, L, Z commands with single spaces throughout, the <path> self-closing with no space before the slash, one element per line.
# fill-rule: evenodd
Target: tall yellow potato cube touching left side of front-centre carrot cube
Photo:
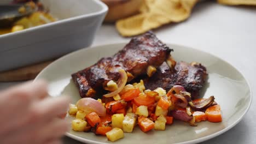
<path fill-rule="evenodd" d="M 137 115 L 135 113 L 127 113 L 123 121 L 123 130 L 126 133 L 131 133 L 136 125 Z"/>

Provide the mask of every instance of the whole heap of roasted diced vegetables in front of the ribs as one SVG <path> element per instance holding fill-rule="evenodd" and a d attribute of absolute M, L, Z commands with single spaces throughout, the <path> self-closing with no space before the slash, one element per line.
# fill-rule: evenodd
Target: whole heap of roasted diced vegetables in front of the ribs
<path fill-rule="evenodd" d="M 119 70 L 120 75 L 126 75 Z M 125 76 L 124 76 L 125 79 Z M 96 135 L 106 135 L 109 141 L 132 133 L 136 125 L 144 132 L 165 130 L 173 119 L 196 126 L 201 121 L 222 122 L 220 105 L 211 96 L 207 99 L 191 99 L 190 93 L 182 86 L 173 86 L 166 92 L 162 88 L 145 89 L 139 83 L 119 87 L 114 81 L 108 82 L 110 93 L 102 99 L 82 98 L 76 105 L 69 105 L 69 115 L 74 116 L 72 129 L 92 131 Z M 117 89 L 121 88 L 118 94 Z"/>

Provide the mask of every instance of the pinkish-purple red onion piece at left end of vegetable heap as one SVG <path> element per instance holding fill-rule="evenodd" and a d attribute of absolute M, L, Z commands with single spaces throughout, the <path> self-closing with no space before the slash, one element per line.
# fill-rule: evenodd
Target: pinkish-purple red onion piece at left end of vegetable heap
<path fill-rule="evenodd" d="M 85 113 L 96 112 L 98 116 L 106 116 L 106 108 L 100 103 L 92 98 L 82 98 L 77 101 L 78 110 L 82 110 Z"/>

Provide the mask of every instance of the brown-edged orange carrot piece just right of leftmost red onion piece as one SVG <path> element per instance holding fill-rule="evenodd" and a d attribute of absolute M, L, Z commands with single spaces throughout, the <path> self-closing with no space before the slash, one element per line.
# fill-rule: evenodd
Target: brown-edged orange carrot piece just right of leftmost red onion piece
<path fill-rule="evenodd" d="M 123 109 L 126 106 L 126 102 L 124 100 L 114 100 L 110 101 L 106 104 L 106 110 L 108 113 L 115 113 L 119 109 Z"/>

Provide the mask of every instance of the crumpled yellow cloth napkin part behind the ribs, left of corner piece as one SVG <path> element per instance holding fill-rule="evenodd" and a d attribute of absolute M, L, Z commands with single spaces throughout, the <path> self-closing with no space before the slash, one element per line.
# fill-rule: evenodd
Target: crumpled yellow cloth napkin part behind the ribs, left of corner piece
<path fill-rule="evenodd" d="M 191 14 L 198 0 L 145 0 L 138 15 L 118 20 L 116 27 L 124 37 L 142 34 L 170 22 L 181 22 Z"/>

